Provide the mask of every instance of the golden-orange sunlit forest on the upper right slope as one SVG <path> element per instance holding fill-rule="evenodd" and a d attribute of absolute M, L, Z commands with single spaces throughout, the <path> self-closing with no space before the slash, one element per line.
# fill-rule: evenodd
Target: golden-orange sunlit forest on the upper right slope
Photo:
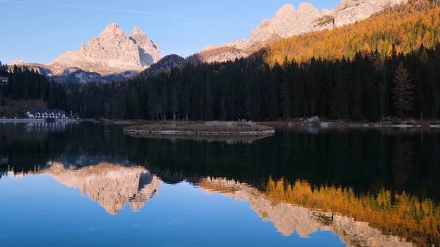
<path fill-rule="evenodd" d="M 433 47 L 440 41 L 440 1 L 409 0 L 408 3 L 385 8 L 369 19 L 333 30 L 310 32 L 265 47 L 265 62 L 287 60 L 309 62 L 312 56 L 327 60 L 353 58 L 358 51 L 378 51 L 382 58 L 410 53 L 423 45 Z"/>

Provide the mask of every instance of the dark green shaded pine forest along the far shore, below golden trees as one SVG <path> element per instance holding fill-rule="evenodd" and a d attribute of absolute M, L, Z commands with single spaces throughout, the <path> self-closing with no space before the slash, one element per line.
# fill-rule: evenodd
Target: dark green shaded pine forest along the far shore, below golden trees
<path fill-rule="evenodd" d="M 439 117 L 440 44 L 385 60 L 360 51 L 334 62 L 249 58 L 184 64 L 158 75 L 102 84 L 54 83 L 28 67 L 8 73 L 3 97 L 41 99 L 81 117 L 273 121 L 318 115 L 377 121 Z"/>

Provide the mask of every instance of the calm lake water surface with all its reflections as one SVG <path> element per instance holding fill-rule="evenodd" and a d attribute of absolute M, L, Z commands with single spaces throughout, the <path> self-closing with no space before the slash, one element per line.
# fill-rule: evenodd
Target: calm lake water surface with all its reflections
<path fill-rule="evenodd" d="M 439 246 L 440 132 L 0 124 L 1 246 Z"/>

